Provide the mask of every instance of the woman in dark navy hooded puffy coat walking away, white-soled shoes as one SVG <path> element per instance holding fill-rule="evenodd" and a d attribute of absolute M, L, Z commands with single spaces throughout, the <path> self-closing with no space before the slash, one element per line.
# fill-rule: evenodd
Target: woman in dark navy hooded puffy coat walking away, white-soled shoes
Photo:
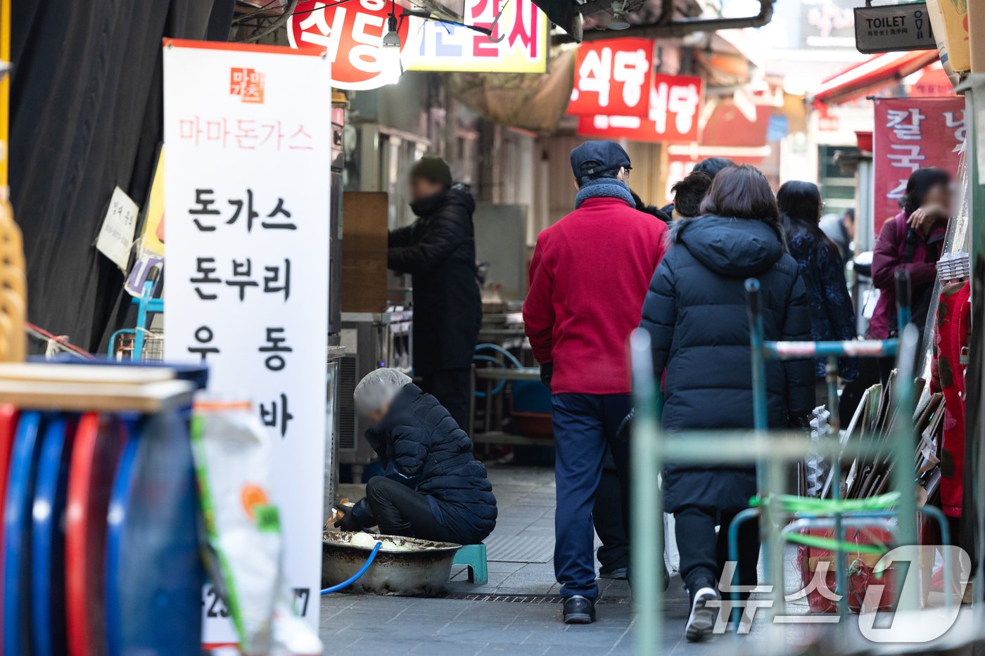
<path fill-rule="evenodd" d="M 753 426 L 746 279 L 761 286 L 765 339 L 811 339 L 807 291 L 797 262 L 784 251 L 776 200 L 762 173 L 750 165 L 723 169 L 701 211 L 675 222 L 640 322 L 650 333 L 654 371 L 667 374 L 663 425 L 669 431 Z M 803 426 L 814 407 L 814 362 L 769 361 L 765 384 L 769 426 Z M 663 485 L 691 599 L 686 634 L 696 640 L 712 628 L 715 604 L 708 602 L 719 598 L 728 526 L 755 495 L 755 468 L 670 464 Z M 743 527 L 739 583 L 755 586 L 758 528 Z"/>

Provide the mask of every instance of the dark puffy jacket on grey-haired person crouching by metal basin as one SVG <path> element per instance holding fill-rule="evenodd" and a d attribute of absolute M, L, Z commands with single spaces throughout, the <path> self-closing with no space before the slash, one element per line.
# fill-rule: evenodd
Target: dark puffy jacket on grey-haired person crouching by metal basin
<path fill-rule="evenodd" d="M 411 383 L 390 404 L 366 440 L 383 467 L 436 503 L 444 524 L 463 544 L 486 539 L 495 526 L 495 496 L 472 440 L 430 394 Z"/>

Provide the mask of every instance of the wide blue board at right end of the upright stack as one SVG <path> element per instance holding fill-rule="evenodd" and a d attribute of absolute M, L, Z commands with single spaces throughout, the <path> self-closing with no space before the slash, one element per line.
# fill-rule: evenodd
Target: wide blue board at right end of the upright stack
<path fill-rule="evenodd" d="M 106 552 L 109 656 L 198 656 L 202 583 L 187 413 L 148 417 L 113 483 Z"/>

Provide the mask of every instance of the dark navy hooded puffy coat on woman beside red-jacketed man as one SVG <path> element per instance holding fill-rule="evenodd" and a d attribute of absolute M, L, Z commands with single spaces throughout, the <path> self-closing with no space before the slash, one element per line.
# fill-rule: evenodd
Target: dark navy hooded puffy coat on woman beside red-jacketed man
<path fill-rule="evenodd" d="M 810 340 L 811 317 L 797 262 L 779 235 L 747 219 L 682 219 L 650 282 L 640 325 L 654 370 L 666 371 L 668 430 L 753 426 L 753 379 L 744 282 L 760 283 L 767 340 Z M 767 361 L 769 426 L 797 425 L 814 407 L 814 362 Z M 738 509 L 755 494 L 755 467 L 668 465 L 665 503 Z"/>

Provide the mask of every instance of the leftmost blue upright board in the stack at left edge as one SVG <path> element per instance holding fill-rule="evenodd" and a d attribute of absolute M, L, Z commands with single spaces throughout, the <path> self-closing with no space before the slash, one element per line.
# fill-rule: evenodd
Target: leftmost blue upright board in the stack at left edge
<path fill-rule="evenodd" d="M 24 413 L 14 438 L 4 505 L 3 651 L 31 654 L 31 510 L 41 414 Z"/>

